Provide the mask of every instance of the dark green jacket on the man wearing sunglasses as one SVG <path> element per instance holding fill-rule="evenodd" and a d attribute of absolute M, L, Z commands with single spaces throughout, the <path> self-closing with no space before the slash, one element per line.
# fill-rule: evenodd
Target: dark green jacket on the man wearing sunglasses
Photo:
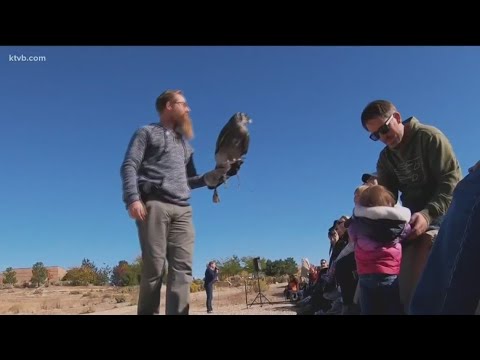
<path fill-rule="evenodd" d="M 396 197 L 412 214 L 421 212 L 434 222 L 447 212 L 452 193 L 462 172 L 446 136 L 433 126 L 411 117 L 406 143 L 396 149 L 385 147 L 377 163 L 378 183 Z"/>

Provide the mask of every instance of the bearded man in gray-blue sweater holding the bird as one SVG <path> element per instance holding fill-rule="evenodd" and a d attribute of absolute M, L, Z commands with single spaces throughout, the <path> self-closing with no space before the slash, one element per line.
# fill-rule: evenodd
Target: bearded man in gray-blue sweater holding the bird
<path fill-rule="evenodd" d="M 191 189 L 217 186 L 228 164 L 197 174 L 188 143 L 190 107 L 181 90 L 163 92 L 155 107 L 160 122 L 135 132 L 121 166 L 123 201 L 136 220 L 143 260 L 137 313 L 159 314 L 168 266 L 165 313 L 188 315 L 195 237 Z"/>

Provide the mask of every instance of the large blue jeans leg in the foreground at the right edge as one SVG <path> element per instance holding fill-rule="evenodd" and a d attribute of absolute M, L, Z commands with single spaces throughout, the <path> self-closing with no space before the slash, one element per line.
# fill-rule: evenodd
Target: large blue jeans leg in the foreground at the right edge
<path fill-rule="evenodd" d="M 453 192 L 410 314 L 474 314 L 480 300 L 480 171 Z"/>

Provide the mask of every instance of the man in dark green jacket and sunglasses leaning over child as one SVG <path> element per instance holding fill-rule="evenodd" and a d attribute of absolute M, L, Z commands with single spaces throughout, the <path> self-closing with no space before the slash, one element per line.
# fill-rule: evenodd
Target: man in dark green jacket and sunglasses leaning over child
<path fill-rule="evenodd" d="M 439 129 L 415 117 L 403 121 L 390 101 L 369 103 L 361 120 L 370 139 L 386 145 L 377 162 L 378 183 L 397 197 L 400 192 L 402 205 L 412 212 L 412 232 L 403 243 L 399 276 L 400 298 L 407 312 L 461 170 Z"/>

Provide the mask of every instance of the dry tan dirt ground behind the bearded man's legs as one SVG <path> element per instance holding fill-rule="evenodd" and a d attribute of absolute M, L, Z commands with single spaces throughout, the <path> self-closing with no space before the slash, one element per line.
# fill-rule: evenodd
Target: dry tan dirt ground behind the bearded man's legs
<path fill-rule="evenodd" d="M 262 297 L 262 304 L 257 293 L 248 293 L 246 299 L 243 287 L 216 288 L 214 312 L 208 315 L 295 315 L 292 304 L 283 299 L 285 285 L 270 285 L 264 293 L 266 298 Z M 0 314 L 135 315 L 137 300 L 138 287 L 49 286 L 37 289 L 0 289 Z M 192 293 L 190 314 L 207 315 L 205 302 L 205 291 Z M 165 287 L 162 288 L 162 314 L 165 311 L 164 304 Z"/>

